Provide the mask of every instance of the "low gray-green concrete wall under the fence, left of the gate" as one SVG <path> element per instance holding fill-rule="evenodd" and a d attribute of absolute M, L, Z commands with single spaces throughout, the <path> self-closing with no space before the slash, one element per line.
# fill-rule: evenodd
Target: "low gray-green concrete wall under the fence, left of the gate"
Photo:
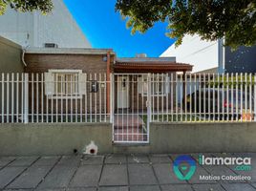
<path fill-rule="evenodd" d="M 95 141 L 99 153 L 112 149 L 112 125 L 94 124 L 2 124 L 0 156 L 72 155 L 82 153 Z"/>

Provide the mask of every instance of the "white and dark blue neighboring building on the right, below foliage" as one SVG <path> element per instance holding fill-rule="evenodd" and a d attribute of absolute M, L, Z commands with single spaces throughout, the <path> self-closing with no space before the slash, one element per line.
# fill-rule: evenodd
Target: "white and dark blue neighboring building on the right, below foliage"
<path fill-rule="evenodd" d="M 256 73 L 256 46 L 240 47 L 232 52 L 223 46 L 223 40 L 205 41 L 198 35 L 186 35 L 181 46 L 169 47 L 160 57 L 176 56 L 177 62 L 194 65 L 193 73 L 218 68 L 218 73 Z"/>

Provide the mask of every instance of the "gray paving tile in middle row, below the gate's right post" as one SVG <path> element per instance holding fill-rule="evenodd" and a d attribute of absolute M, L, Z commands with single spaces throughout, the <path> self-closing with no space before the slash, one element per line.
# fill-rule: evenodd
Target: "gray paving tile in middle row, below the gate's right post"
<path fill-rule="evenodd" d="M 152 166 L 149 164 L 128 164 L 129 180 L 131 184 L 157 184 Z"/>

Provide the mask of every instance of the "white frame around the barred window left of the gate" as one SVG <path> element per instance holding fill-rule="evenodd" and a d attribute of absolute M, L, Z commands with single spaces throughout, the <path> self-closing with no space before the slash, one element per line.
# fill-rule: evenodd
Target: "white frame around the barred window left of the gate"
<path fill-rule="evenodd" d="M 72 70 L 72 69 L 50 69 L 50 70 L 48 70 L 48 73 L 49 74 L 78 74 L 77 75 L 77 91 L 78 91 L 78 94 L 77 95 L 74 95 L 74 96 L 65 96 L 65 95 L 63 95 L 63 96 L 60 96 L 60 95 L 57 95 L 56 93 L 55 93 L 55 87 L 54 87 L 54 83 L 55 83 L 55 81 L 54 81 L 54 76 L 53 76 L 53 93 L 52 93 L 52 95 L 48 95 L 48 98 L 53 98 L 53 99 L 66 99 L 66 98 L 68 98 L 68 99 L 75 99 L 75 98 L 77 98 L 77 99 L 81 99 L 82 98 L 82 96 L 83 95 L 86 95 L 86 93 L 84 93 L 84 94 L 80 94 L 80 87 L 79 87 L 79 82 L 80 82 L 80 80 L 79 80 L 79 77 L 80 77 L 80 74 L 82 74 L 82 70 Z M 50 83 L 51 83 L 51 81 L 50 81 Z"/>

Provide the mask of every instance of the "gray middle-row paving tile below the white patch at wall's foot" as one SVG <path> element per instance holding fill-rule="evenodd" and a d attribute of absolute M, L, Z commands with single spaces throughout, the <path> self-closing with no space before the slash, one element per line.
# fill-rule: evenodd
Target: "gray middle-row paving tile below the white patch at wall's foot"
<path fill-rule="evenodd" d="M 75 177 L 70 183 L 70 187 L 90 187 L 96 186 L 100 178 L 102 165 L 80 166 L 75 173 Z"/>

